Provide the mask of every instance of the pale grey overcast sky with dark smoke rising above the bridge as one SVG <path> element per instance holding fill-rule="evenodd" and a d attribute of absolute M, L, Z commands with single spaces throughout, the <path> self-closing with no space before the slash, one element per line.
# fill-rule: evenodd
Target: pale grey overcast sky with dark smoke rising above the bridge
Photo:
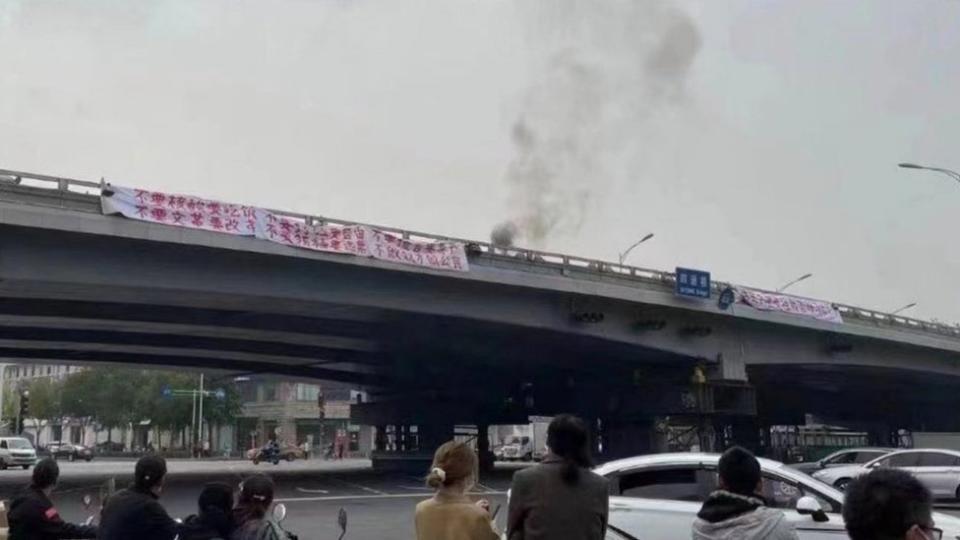
<path fill-rule="evenodd" d="M 960 320 L 957 0 L 0 0 L 0 168 Z"/>

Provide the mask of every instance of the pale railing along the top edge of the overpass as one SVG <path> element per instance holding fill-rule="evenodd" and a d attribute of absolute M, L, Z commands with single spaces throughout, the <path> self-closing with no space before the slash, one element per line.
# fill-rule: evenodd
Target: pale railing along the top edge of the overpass
<path fill-rule="evenodd" d="M 90 182 L 84 180 L 75 180 L 73 178 L 62 178 L 57 176 L 47 176 L 0 169 L 0 193 L 6 191 L 7 186 L 22 186 L 25 188 L 50 190 L 57 193 L 57 195 L 52 197 L 52 199 L 57 199 L 60 202 L 59 205 L 55 206 L 61 207 L 65 207 L 65 201 L 74 198 L 74 195 L 79 197 L 84 195 L 99 197 L 101 188 L 103 188 L 105 185 L 107 184 L 102 180 L 101 182 Z M 583 272 L 584 274 L 595 276 L 608 276 L 615 279 L 622 279 L 626 282 L 639 282 L 647 285 L 659 286 L 664 290 L 672 290 L 676 280 L 676 276 L 673 272 L 652 270 L 649 268 L 641 268 L 616 262 L 602 261 L 599 259 L 590 259 L 575 255 L 565 255 L 562 253 L 551 253 L 548 251 L 538 251 L 534 249 L 518 247 L 503 248 L 494 246 L 489 242 L 478 242 L 475 240 L 466 240 L 450 236 L 409 231 L 395 227 L 370 225 L 368 223 L 358 223 L 355 221 L 346 221 L 329 217 L 298 214 L 296 212 L 274 210 L 271 208 L 266 208 L 265 210 L 287 219 L 301 221 L 308 225 L 366 225 L 387 233 L 395 234 L 406 240 L 457 242 L 466 246 L 468 255 L 484 255 L 491 259 L 529 264 L 531 267 L 544 266 L 559 268 L 561 273 L 565 275 L 571 275 L 571 272 Z M 732 283 L 726 282 L 714 281 L 711 283 L 711 287 L 714 292 L 718 293 L 727 287 L 735 286 L 736 285 Z M 764 291 L 764 289 L 758 289 L 756 287 L 750 288 Z M 764 292 L 772 293 L 773 291 Z M 832 305 L 840 312 L 845 323 L 853 323 L 856 321 L 859 324 L 866 324 L 875 327 L 887 326 L 902 330 L 913 330 L 917 332 L 934 333 L 942 336 L 960 338 L 960 326 L 958 325 L 924 321 L 846 304 L 833 303 Z"/>

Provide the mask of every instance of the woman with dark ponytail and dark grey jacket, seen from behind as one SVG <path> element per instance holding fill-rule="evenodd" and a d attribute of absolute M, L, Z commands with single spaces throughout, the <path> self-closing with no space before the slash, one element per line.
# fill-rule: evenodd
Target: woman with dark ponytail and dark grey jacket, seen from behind
<path fill-rule="evenodd" d="M 603 540 L 609 514 L 605 478 L 590 471 L 586 422 L 560 415 L 547 427 L 543 462 L 513 475 L 510 540 Z"/>

